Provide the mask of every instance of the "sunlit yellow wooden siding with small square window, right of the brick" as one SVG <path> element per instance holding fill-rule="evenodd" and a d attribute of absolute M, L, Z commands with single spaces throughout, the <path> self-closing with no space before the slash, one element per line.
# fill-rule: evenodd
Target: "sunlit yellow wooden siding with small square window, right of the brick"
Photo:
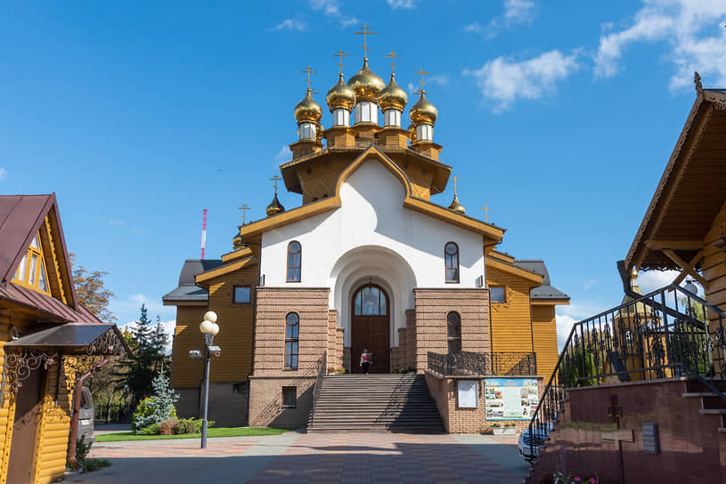
<path fill-rule="evenodd" d="M 532 319 L 529 311 L 532 283 L 503 270 L 487 267 L 486 284 L 506 286 L 507 294 L 507 303 L 492 303 L 492 351 L 532 351 Z"/>

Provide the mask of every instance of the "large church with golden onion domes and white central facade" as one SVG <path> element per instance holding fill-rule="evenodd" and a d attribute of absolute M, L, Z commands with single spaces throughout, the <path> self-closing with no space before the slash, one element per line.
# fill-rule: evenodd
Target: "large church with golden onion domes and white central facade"
<path fill-rule="evenodd" d="M 461 351 L 490 362 L 519 355 L 510 368 L 535 355 L 532 374 L 551 372 L 555 306 L 569 298 L 542 261 L 496 251 L 505 230 L 467 215 L 458 194 L 449 206 L 434 203 L 452 167 L 434 142 L 437 110 L 423 90 L 417 97 L 404 127 L 408 95 L 364 59 L 328 92 L 332 125 L 323 129 L 307 90 L 278 179 L 302 205 L 285 210 L 275 185 L 267 217 L 243 223 L 221 260 L 186 261 L 163 298 L 177 307 L 181 413 L 199 411 L 203 368 L 187 354 L 200 349 L 208 310 L 219 315 L 223 349 L 212 364 L 210 418 L 228 424 L 305 425 L 320 366 L 360 372 L 364 349 L 373 373 L 424 373 L 429 353 Z"/>

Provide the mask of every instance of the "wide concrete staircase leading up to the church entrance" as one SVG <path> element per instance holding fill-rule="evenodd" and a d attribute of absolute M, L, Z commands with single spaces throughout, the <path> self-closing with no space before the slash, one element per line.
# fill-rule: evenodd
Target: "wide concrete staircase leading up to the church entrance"
<path fill-rule="evenodd" d="M 444 432 L 423 375 L 330 375 L 308 432 Z"/>

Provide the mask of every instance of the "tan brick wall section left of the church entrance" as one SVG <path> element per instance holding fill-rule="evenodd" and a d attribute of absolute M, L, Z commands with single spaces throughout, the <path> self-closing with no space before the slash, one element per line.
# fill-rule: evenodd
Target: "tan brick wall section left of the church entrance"
<path fill-rule="evenodd" d="M 322 355 L 338 343 L 338 331 L 330 328 L 330 321 L 337 316 L 328 309 L 329 293 L 328 288 L 257 288 L 255 368 L 249 378 L 250 425 L 306 425 Z M 285 318 L 290 312 L 299 316 L 297 369 L 285 369 Z M 331 357 L 326 367 L 335 366 L 335 351 Z M 296 388 L 297 407 L 282 407 L 283 387 Z"/>

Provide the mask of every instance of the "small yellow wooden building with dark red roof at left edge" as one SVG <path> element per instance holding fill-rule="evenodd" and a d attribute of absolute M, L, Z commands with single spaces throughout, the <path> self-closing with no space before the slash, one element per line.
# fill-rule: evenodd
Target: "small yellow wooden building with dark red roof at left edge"
<path fill-rule="evenodd" d="M 0 484 L 61 479 L 77 380 L 126 343 L 78 303 L 55 195 L 0 196 Z"/>

